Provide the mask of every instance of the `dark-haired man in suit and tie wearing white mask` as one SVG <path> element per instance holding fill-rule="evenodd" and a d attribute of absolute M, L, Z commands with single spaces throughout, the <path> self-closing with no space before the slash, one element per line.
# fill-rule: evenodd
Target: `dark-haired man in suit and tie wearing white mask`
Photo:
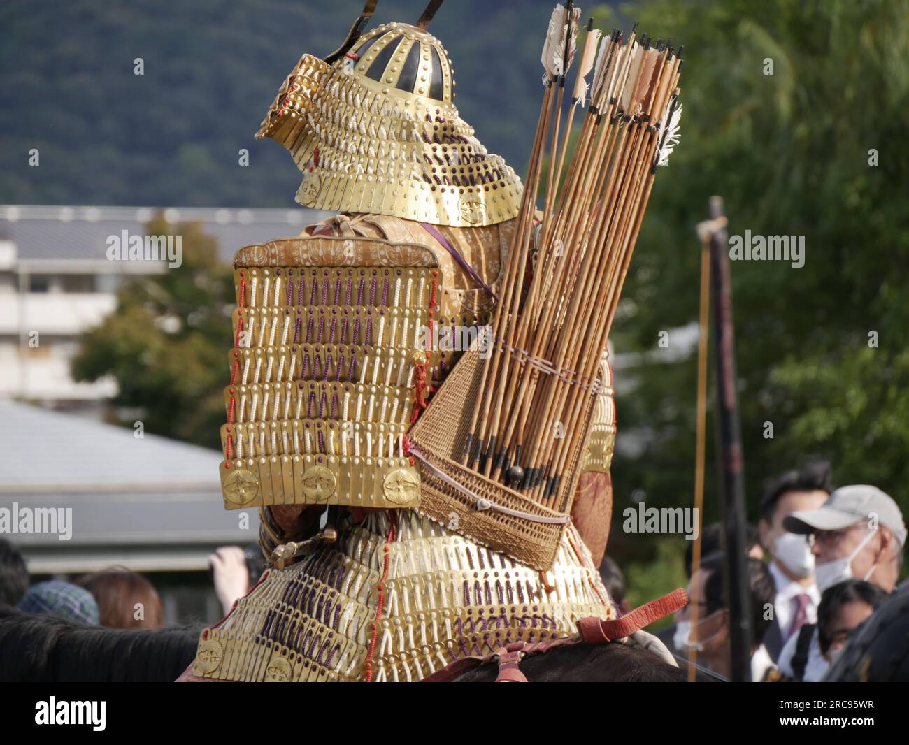
<path fill-rule="evenodd" d="M 816 510 L 830 496 L 830 464 L 815 462 L 777 479 L 761 501 L 761 520 L 757 530 L 769 551 L 770 574 L 774 578 L 776 599 L 774 621 L 767 631 L 764 646 L 773 660 L 785 642 L 806 623 L 817 621 L 821 593 L 814 583 L 814 553 L 807 536 L 784 530 L 784 517 L 790 512 Z"/>

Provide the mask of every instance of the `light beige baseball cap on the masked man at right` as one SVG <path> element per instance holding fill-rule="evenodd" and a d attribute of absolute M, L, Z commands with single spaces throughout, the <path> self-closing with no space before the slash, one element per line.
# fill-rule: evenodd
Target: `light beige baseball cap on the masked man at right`
<path fill-rule="evenodd" d="M 783 528 L 794 533 L 841 531 L 858 521 L 876 516 L 879 525 L 894 532 L 900 546 L 906 542 L 903 514 L 893 498 L 876 486 L 857 484 L 835 490 L 816 510 L 790 512 L 783 518 Z"/>

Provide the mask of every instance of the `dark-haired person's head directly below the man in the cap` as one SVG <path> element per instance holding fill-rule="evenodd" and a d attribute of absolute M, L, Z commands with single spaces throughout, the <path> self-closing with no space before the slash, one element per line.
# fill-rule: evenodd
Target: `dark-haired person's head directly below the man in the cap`
<path fill-rule="evenodd" d="M 828 587 L 817 609 L 817 640 L 824 659 L 833 662 L 853 631 L 888 597 L 877 585 L 862 580 L 846 580 Z"/>

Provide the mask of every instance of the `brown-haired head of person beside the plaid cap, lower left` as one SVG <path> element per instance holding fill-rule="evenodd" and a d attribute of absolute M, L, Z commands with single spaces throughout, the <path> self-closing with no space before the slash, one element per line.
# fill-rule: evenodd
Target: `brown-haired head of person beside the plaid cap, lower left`
<path fill-rule="evenodd" d="M 86 574 L 76 581 L 98 603 L 100 625 L 108 629 L 158 629 L 165 612 L 152 583 L 125 567 Z"/>

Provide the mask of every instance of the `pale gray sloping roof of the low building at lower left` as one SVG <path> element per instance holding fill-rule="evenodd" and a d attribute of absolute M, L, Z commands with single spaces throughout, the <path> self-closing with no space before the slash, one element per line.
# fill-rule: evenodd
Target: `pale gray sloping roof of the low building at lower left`
<path fill-rule="evenodd" d="M 0 421 L 0 509 L 54 512 L 44 532 L 18 522 L 4 535 L 32 571 L 204 569 L 215 546 L 255 543 L 256 510 L 240 511 L 241 526 L 224 508 L 220 452 L 13 401 L 0 401 Z"/>

